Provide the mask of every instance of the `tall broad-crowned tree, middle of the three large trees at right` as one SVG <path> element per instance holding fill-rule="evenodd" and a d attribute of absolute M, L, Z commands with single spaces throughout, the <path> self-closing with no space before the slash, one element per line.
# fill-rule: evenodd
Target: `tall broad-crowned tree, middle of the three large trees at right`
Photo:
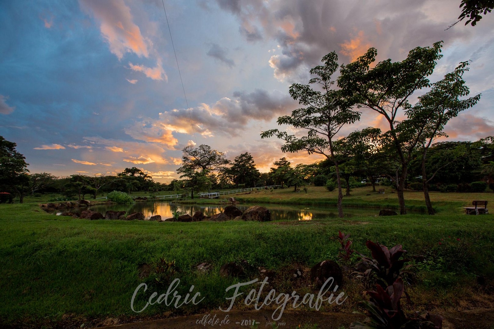
<path fill-rule="evenodd" d="M 405 207 L 404 189 L 407 179 L 408 164 L 412 152 L 420 139 L 415 135 L 414 140 L 408 140 L 409 131 L 397 131 L 397 118 L 403 110 L 410 108 L 409 97 L 416 91 L 430 86 L 427 78 L 442 55 L 442 41 L 432 47 L 416 47 L 407 58 L 401 62 L 391 62 L 391 59 L 381 61 L 374 68 L 377 50 L 370 48 L 367 53 L 355 62 L 343 65 L 338 77 L 338 86 L 359 108 L 368 108 L 381 114 L 389 125 L 390 140 L 395 146 L 397 157 L 401 164 L 396 177 L 396 189 L 400 204 L 400 214 L 407 213 Z"/>

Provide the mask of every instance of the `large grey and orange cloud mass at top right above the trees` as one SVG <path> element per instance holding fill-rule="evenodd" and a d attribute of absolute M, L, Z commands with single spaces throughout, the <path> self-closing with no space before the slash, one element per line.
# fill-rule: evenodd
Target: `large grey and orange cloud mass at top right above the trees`
<path fill-rule="evenodd" d="M 247 41 L 252 41 L 255 32 L 258 38 L 265 36 L 280 45 L 281 53 L 273 55 L 269 65 L 275 78 L 288 82 L 306 82 L 307 74 L 303 73 L 319 65 L 321 58 L 333 50 L 344 63 L 370 46 L 377 48 L 378 60 L 401 60 L 416 46 L 430 46 L 439 40 L 449 44 L 472 33 L 467 29 L 444 31 L 455 15 L 438 14 L 439 8 L 431 11 L 426 0 L 398 0 L 392 4 L 358 0 L 217 3 L 238 18 L 239 29 L 247 31 L 243 33 Z M 442 2 L 438 6 L 451 4 Z"/>

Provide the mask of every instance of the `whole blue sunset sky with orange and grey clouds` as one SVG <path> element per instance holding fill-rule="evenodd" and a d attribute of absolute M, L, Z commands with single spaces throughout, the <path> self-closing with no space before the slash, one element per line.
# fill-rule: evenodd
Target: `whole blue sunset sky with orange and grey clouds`
<path fill-rule="evenodd" d="M 331 51 L 340 64 L 370 47 L 377 61 L 401 61 L 443 40 L 430 80 L 470 60 L 470 96 L 482 93 L 448 123 L 449 140 L 492 136 L 494 13 L 445 31 L 459 2 L 165 0 L 168 29 L 162 0 L 2 0 L 0 135 L 17 143 L 31 173 L 60 177 L 135 166 L 169 182 L 181 150 L 201 144 L 230 160 L 249 152 L 261 172 L 283 156 L 313 163 L 322 158 L 283 153 L 283 141 L 259 136 L 301 133 L 276 123 L 299 107 L 290 84 L 307 84 Z M 377 113 L 360 111 L 341 137 L 385 127 Z"/>

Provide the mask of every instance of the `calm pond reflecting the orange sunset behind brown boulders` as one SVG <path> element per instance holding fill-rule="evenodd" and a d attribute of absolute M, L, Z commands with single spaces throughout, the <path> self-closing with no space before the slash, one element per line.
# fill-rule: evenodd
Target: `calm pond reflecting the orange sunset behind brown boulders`
<path fill-rule="evenodd" d="M 252 206 L 263 206 L 271 212 L 272 220 L 311 220 L 311 219 L 326 219 L 338 218 L 338 209 L 335 206 L 313 206 L 313 205 L 282 205 L 273 203 L 238 203 L 236 207 L 242 212 Z M 82 212 L 83 210 L 92 210 L 105 215 L 108 210 L 126 211 L 127 215 L 132 213 L 143 213 L 146 219 L 154 215 L 161 215 L 162 219 L 173 217 L 172 211 L 176 208 L 180 214 L 194 215 L 196 211 L 202 211 L 207 217 L 223 212 L 225 205 L 204 205 L 204 204 L 180 204 L 171 201 L 147 201 L 136 202 L 131 205 L 118 204 L 103 204 L 83 208 L 74 208 L 71 212 Z M 345 217 L 353 216 L 375 216 L 379 213 L 379 209 L 375 208 L 355 208 L 343 207 Z M 57 215 L 59 215 L 58 213 Z"/>

